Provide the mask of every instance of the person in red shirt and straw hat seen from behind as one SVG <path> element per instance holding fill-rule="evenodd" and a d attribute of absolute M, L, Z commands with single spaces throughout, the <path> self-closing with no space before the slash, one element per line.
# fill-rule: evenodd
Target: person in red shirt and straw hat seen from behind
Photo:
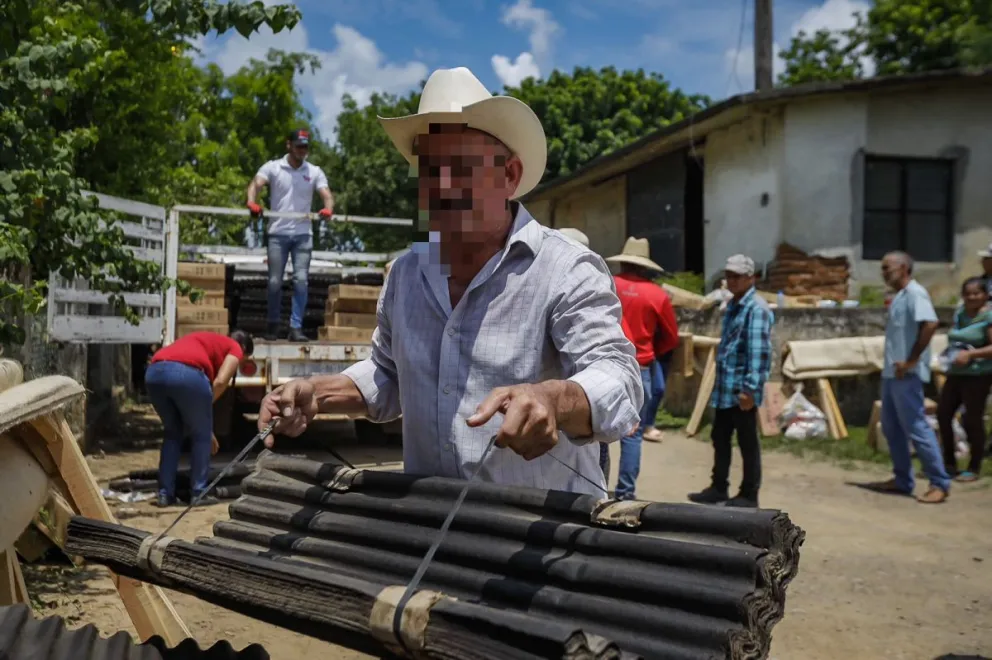
<path fill-rule="evenodd" d="M 644 430 L 654 426 L 658 414 L 664 378 L 671 362 L 672 352 L 679 344 L 678 323 L 672 300 L 663 288 L 655 284 L 654 277 L 665 272 L 650 258 L 646 238 L 628 238 L 623 252 L 607 261 L 620 265 L 614 277 L 617 296 L 623 309 L 623 333 L 637 351 L 641 366 L 641 383 L 644 386 L 644 406 L 641 424 L 631 435 L 620 441 L 620 470 L 617 478 L 616 498 L 634 499 L 634 487 L 641 469 L 641 440 Z M 652 371 L 660 369 L 660 378 L 652 378 Z M 653 380 L 661 380 L 659 387 Z M 608 470 L 609 448 L 600 449 L 600 465 Z"/>

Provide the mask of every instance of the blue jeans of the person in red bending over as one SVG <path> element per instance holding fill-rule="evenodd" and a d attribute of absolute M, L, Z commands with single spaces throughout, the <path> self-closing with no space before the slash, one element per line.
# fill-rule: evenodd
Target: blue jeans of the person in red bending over
<path fill-rule="evenodd" d="M 214 395 L 201 370 L 179 362 L 155 362 L 145 371 L 145 389 L 165 427 L 158 460 L 158 492 L 176 496 L 176 473 L 183 438 L 190 439 L 190 486 L 193 497 L 207 487 L 214 428 Z"/>

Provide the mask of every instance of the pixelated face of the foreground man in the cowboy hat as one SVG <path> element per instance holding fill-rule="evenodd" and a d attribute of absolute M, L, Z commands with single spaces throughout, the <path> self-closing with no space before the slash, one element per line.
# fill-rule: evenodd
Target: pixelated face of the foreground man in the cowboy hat
<path fill-rule="evenodd" d="M 442 246 L 484 245 L 506 230 L 507 204 L 523 165 L 502 143 L 460 124 L 441 124 L 417 137 L 414 152 L 418 208 Z"/>

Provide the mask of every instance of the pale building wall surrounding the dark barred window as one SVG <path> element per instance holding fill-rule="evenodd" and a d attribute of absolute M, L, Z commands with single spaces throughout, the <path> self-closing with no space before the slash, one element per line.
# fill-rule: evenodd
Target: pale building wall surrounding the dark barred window
<path fill-rule="evenodd" d="M 808 99 L 785 112 L 781 240 L 852 264 L 851 295 L 882 284 L 861 258 L 865 153 L 958 161 L 953 263 L 919 263 L 917 278 L 946 301 L 979 272 L 992 242 L 992 90 L 924 89 Z"/>

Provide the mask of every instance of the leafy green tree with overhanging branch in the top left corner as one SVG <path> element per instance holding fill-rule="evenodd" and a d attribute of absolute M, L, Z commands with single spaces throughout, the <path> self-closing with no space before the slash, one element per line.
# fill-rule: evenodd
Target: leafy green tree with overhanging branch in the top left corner
<path fill-rule="evenodd" d="M 98 123 L 113 113 L 92 97 L 101 97 L 109 85 L 118 102 L 131 104 L 124 106 L 131 113 L 146 112 L 142 90 L 119 80 L 141 66 L 125 60 L 141 60 L 148 52 L 150 67 L 164 67 L 159 42 L 171 54 L 193 34 L 234 28 L 247 37 L 263 24 L 279 32 L 299 18 L 295 7 L 266 7 L 261 1 L 8 0 L 0 25 L 0 304 L 5 308 L 0 342 L 24 340 L 18 313 L 33 314 L 43 306 L 45 284 L 55 269 L 111 294 L 111 303 L 131 321 L 136 315 L 121 293 L 168 285 L 158 266 L 134 258 L 120 229 L 103 226 L 95 203 L 81 195 L 87 186 L 78 166 L 81 155 L 94 153 L 107 139 L 130 139 Z M 174 106 L 166 101 L 152 99 L 150 115 L 182 123 L 169 115 Z M 129 126 L 135 124 L 145 125 Z M 146 148 L 147 142 L 125 147 Z M 126 179 L 138 175 L 96 166 L 88 174 L 118 177 L 118 188 L 140 184 L 138 178 Z"/>

